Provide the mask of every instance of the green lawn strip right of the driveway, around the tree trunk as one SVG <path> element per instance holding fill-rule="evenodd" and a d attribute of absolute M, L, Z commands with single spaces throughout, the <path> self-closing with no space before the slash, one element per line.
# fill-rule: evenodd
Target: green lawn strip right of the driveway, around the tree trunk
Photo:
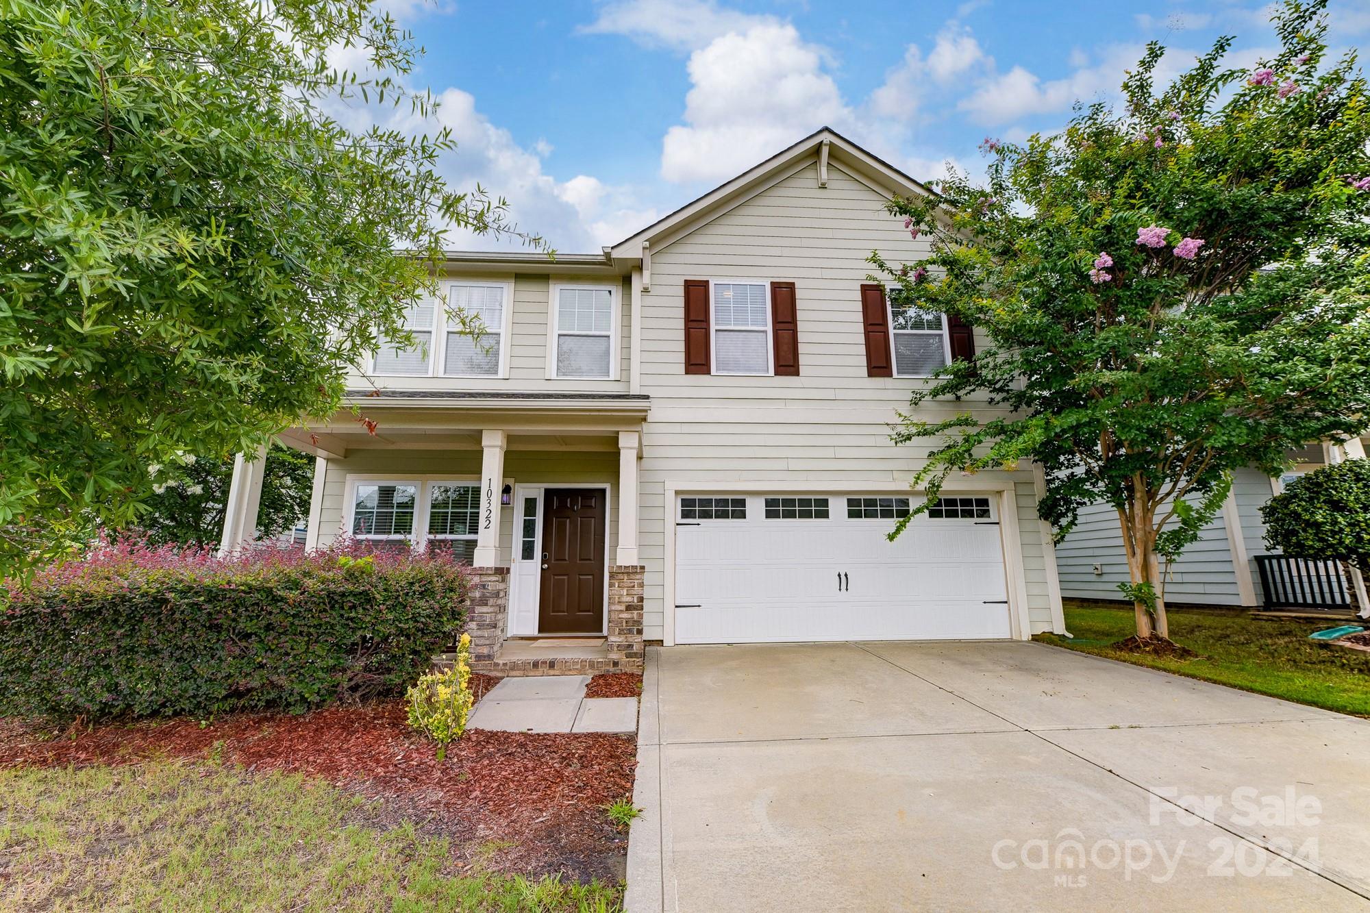
<path fill-rule="evenodd" d="M 1269 694 L 1285 701 L 1370 717 L 1370 653 L 1322 646 L 1308 635 L 1337 622 L 1267 621 L 1245 613 L 1170 610 L 1170 639 L 1199 654 L 1195 659 L 1158 659 L 1118 653 L 1108 644 L 1136 633 L 1132 609 L 1066 606 L 1074 640 L 1037 635 L 1037 640 L 1110 659 L 1164 669 L 1182 676 Z M 1344 622 L 1341 622 L 1344 624 Z"/>

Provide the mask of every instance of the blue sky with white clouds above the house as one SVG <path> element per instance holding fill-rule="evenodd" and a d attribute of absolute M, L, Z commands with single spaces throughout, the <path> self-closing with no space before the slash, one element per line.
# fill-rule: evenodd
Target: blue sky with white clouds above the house
<path fill-rule="evenodd" d="M 1269 4 L 1118 0 L 385 0 L 423 45 L 408 81 L 458 140 L 443 170 L 596 251 L 829 125 L 918 178 L 980 167 L 986 136 L 1052 130 L 1117 92 L 1149 40 L 1177 71 L 1219 34 L 1275 47 Z M 1330 42 L 1370 34 L 1333 0 Z M 397 117 L 397 115 L 396 115 Z M 403 118 L 397 117 L 397 122 Z M 488 248 L 489 239 L 453 239 Z"/>

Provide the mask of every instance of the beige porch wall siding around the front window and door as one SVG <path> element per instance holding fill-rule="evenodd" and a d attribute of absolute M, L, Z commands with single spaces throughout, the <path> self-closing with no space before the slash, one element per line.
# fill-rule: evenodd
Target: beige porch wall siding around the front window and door
<path fill-rule="evenodd" d="M 444 476 L 475 481 L 481 476 L 481 452 L 474 450 L 358 450 L 347 459 L 330 459 L 323 480 L 319 511 L 319 544 L 325 546 L 342 529 L 347 477 L 384 474 L 386 480 L 404 481 L 419 476 Z M 516 485 L 596 484 L 608 487 L 608 555 L 614 561 L 618 547 L 618 454 L 616 452 L 547 452 L 510 450 L 504 454 L 504 480 Z M 500 511 L 500 561 L 508 566 L 512 557 L 514 514 L 516 503 Z"/>

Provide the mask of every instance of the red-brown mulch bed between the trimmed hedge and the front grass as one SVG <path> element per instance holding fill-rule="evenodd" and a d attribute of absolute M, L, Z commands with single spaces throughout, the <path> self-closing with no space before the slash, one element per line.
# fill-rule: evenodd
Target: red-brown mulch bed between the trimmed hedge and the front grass
<path fill-rule="evenodd" d="M 488 688 L 497 679 L 480 676 Z M 473 676 L 475 681 L 477 676 Z M 149 758 L 282 770 L 378 799 L 379 824 L 412 821 L 453 843 L 453 865 L 578 880 L 623 875 L 626 833 L 603 806 L 633 791 L 636 743 L 603 733 L 469 731 L 438 764 L 399 701 L 303 716 L 234 714 L 201 727 L 175 718 L 51 738 L 0 720 L 0 766 L 86 766 Z M 499 847 L 493 853 L 490 847 Z"/>

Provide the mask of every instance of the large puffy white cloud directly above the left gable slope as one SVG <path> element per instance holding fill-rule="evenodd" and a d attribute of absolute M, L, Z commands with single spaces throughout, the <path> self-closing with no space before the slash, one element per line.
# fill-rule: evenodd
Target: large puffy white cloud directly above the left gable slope
<path fill-rule="evenodd" d="M 752 25 L 695 51 L 685 123 L 666 132 L 662 177 L 730 178 L 823 125 L 851 129 L 855 114 L 823 63 L 788 23 Z"/>

